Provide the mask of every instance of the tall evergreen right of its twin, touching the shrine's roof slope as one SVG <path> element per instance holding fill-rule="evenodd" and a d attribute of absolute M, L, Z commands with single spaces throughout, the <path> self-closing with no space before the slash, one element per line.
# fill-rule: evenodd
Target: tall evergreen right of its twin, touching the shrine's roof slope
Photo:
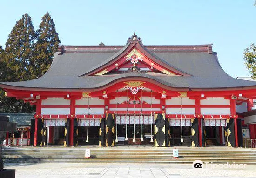
<path fill-rule="evenodd" d="M 35 70 L 37 77 L 42 76 L 53 61 L 54 53 L 58 50 L 59 39 L 55 29 L 54 20 L 49 13 L 42 17 L 37 33 L 37 42 L 35 44 Z"/>

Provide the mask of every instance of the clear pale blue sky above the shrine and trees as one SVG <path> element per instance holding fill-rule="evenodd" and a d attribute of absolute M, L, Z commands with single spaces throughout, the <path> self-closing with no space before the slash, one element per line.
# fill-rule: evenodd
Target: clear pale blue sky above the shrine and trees
<path fill-rule="evenodd" d="M 243 51 L 256 43 L 254 0 L 24 0 L 0 5 L 0 45 L 28 13 L 35 29 L 47 13 L 62 44 L 124 45 L 135 31 L 145 45 L 213 43 L 222 68 L 248 76 Z"/>

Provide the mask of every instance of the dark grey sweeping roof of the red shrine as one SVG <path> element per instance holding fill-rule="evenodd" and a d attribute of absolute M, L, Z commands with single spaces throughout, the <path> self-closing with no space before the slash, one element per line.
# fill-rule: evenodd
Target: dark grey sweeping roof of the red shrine
<path fill-rule="evenodd" d="M 121 78 L 144 77 L 176 88 L 256 86 L 255 81 L 234 79 L 225 73 L 219 64 L 217 53 L 209 51 L 209 49 L 211 50 L 211 45 L 195 47 L 183 46 L 183 48 L 182 46 L 158 46 L 154 53 L 154 46 L 149 46 L 151 50 L 148 50 L 141 44 L 143 49 L 155 59 L 191 76 L 153 75 L 152 73 L 141 72 L 105 74 L 102 76 L 81 76 L 109 63 L 125 51 L 128 45 L 129 44 L 123 47 L 119 46 L 119 51 L 113 50 L 115 46 L 110 46 L 109 49 L 111 50 L 104 50 L 108 49 L 108 46 L 92 46 L 94 49 L 93 52 L 89 50 L 90 46 L 80 46 L 77 48 L 67 46 L 67 48 L 69 48 L 66 51 L 64 50 L 65 53 L 61 51 L 54 54 L 52 65 L 47 73 L 39 79 L 0 84 L 33 88 L 86 89 L 101 87 Z M 101 50 L 97 50 L 97 47 Z M 86 48 L 86 50 L 83 50 L 83 48 Z M 83 53 L 75 53 L 72 51 L 73 49 L 83 50 Z M 97 52 L 95 52 L 95 50 Z"/>

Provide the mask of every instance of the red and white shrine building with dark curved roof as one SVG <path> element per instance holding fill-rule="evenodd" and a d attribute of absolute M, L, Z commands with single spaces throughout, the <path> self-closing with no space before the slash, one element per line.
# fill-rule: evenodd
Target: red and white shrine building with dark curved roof
<path fill-rule="evenodd" d="M 144 45 L 134 33 L 124 46 L 60 45 L 42 77 L 0 87 L 36 105 L 34 146 L 238 147 L 256 128 L 238 112 L 256 82 L 225 73 L 211 44 Z"/>

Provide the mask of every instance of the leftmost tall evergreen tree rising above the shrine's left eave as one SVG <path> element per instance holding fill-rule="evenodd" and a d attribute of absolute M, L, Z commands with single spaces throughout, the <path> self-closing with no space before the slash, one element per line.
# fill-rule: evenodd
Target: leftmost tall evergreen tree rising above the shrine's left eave
<path fill-rule="evenodd" d="M 11 81 L 35 78 L 32 58 L 35 38 L 31 17 L 26 13 L 16 22 L 6 42 L 5 60 L 7 67 L 13 72 Z"/>

